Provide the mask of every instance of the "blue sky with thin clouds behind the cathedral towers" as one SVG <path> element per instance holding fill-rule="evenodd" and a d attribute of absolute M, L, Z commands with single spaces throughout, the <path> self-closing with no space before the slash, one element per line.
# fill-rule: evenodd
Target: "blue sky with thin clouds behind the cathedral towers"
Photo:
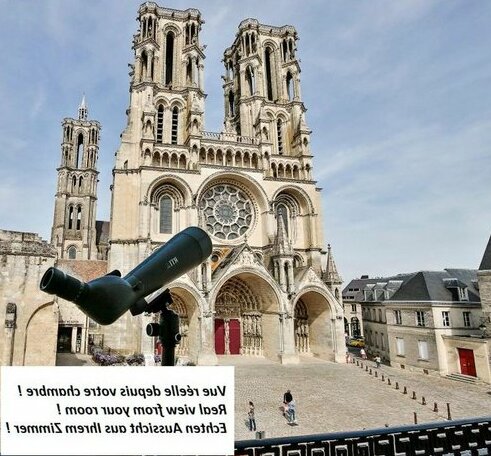
<path fill-rule="evenodd" d="M 50 238 L 61 121 L 102 124 L 98 219 L 126 122 L 140 1 L 0 1 L 0 228 Z M 223 122 L 223 51 L 247 17 L 300 36 L 326 245 L 361 274 L 477 268 L 491 234 L 491 2 L 167 1 L 205 20 L 205 128 Z"/>

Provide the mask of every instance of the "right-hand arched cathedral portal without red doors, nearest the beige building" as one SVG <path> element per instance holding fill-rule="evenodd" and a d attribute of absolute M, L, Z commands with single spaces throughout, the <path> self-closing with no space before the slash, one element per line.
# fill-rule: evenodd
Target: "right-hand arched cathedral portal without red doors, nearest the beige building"
<path fill-rule="evenodd" d="M 334 315 L 324 294 L 301 294 L 294 309 L 295 349 L 298 354 L 334 360 L 336 348 Z"/>

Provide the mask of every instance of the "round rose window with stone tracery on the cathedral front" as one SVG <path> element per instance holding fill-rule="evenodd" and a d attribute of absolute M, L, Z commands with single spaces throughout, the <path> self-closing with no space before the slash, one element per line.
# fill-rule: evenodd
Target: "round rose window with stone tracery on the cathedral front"
<path fill-rule="evenodd" d="M 208 232 L 218 239 L 239 239 L 252 226 L 252 201 L 240 188 L 219 184 L 208 189 L 200 203 Z"/>

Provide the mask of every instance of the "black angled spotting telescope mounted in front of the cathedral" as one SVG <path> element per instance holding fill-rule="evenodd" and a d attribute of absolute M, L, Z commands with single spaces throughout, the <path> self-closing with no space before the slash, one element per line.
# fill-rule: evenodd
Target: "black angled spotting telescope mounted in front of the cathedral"
<path fill-rule="evenodd" d="M 59 269 L 49 268 L 40 288 L 75 303 L 97 323 L 109 325 L 127 310 L 132 315 L 149 311 L 152 303 L 144 299 L 146 296 L 201 264 L 211 250 L 209 236 L 193 226 L 176 234 L 124 277 L 116 270 L 84 283 Z"/>

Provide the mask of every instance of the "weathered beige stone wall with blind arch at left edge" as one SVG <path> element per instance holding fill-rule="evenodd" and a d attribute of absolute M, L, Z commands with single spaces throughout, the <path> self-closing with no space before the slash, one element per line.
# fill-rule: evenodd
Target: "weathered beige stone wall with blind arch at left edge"
<path fill-rule="evenodd" d="M 55 256 L 35 233 L 0 230 L 0 365 L 55 365 L 58 307 L 39 289 Z"/>

